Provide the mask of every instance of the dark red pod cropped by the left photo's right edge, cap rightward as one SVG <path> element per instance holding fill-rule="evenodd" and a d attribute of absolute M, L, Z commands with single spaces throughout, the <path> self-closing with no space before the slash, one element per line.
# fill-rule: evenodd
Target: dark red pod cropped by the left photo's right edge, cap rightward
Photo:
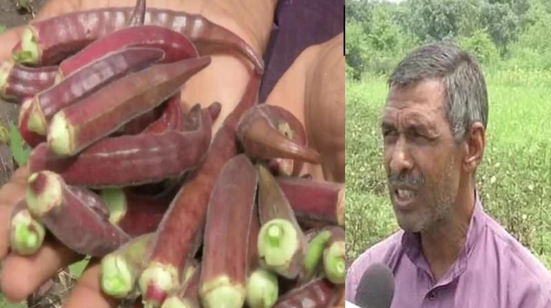
<path fill-rule="evenodd" d="M 344 225 L 344 184 L 298 177 L 276 177 L 299 221 Z"/>

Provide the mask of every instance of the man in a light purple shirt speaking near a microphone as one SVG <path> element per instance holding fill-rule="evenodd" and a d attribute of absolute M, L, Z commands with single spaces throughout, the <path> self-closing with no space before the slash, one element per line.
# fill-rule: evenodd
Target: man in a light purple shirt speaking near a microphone
<path fill-rule="evenodd" d="M 475 172 L 486 146 L 488 96 L 476 61 L 449 43 L 419 47 L 388 80 L 384 165 L 402 228 L 349 269 L 346 300 L 383 263 L 392 307 L 551 307 L 551 276 L 484 212 Z"/>

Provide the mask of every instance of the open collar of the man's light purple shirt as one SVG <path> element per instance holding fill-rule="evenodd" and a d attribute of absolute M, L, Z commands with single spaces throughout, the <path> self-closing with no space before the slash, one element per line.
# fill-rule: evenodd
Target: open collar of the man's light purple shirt
<path fill-rule="evenodd" d="M 467 269 L 468 259 L 478 242 L 482 230 L 484 230 L 484 225 L 486 225 L 486 215 L 484 214 L 484 209 L 482 208 L 479 193 L 475 190 L 475 208 L 472 210 L 472 215 L 470 217 L 465 245 L 463 249 L 461 249 L 461 252 L 459 252 L 459 256 L 455 263 L 452 267 L 450 267 L 450 270 L 444 274 L 438 285 L 450 283 L 465 272 Z M 419 233 L 404 232 L 402 236 L 402 248 L 404 249 L 404 253 L 408 259 L 410 259 L 416 267 L 424 270 L 429 276 L 432 277 L 430 274 L 430 267 L 428 266 L 422 252 L 421 236 Z"/>

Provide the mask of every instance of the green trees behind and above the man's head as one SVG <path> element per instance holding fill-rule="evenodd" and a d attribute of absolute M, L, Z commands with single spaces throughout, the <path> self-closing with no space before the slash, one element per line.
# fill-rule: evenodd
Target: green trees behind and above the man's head
<path fill-rule="evenodd" d="M 346 72 L 388 74 L 412 48 L 453 41 L 486 67 L 551 69 L 549 0 L 346 0 Z"/>

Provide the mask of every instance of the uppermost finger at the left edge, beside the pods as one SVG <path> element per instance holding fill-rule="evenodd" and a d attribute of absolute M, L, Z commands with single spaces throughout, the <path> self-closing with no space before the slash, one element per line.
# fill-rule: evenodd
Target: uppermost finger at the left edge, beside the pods
<path fill-rule="evenodd" d="M 19 168 L 10 181 L 0 188 L 0 260 L 8 254 L 12 210 L 25 197 L 28 175 L 28 168 Z"/>

